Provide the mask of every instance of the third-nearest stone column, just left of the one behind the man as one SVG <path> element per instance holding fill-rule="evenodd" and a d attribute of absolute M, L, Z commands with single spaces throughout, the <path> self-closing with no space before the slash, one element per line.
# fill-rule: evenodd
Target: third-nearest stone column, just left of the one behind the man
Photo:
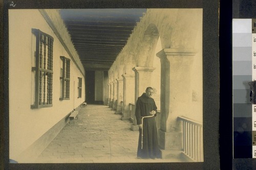
<path fill-rule="evenodd" d="M 135 93 L 135 76 L 134 75 L 122 75 L 123 77 L 123 110 L 122 120 L 130 119 L 129 104 L 134 103 Z"/>

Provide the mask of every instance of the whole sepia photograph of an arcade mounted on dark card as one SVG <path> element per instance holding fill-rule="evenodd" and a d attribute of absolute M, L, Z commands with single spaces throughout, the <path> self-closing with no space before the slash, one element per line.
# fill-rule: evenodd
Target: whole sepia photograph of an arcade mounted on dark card
<path fill-rule="evenodd" d="M 8 16 L 10 163 L 204 161 L 203 9 Z"/>

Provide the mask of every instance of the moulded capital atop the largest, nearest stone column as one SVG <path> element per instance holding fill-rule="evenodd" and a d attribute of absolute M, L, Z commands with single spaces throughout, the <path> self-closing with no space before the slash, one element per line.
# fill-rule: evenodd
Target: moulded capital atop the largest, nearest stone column
<path fill-rule="evenodd" d="M 167 56 L 194 56 L 197 54 L 197 51 L 193 48 L 164 48 L 156 55 L 159 58 Z"/>

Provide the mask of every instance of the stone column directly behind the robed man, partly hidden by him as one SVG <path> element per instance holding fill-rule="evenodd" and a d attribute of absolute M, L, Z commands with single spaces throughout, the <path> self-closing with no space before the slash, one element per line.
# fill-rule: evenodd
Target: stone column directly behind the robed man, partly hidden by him
<path fill-rule="evenodd" d="M 139 96 L 143 92 L 145 92 L 148 86 L 151 86 L 151 75 L 152 71 L 154 71 L 155 67 L 134 67 L 133 70 L 135 72 L 135 100 L 134 103 L 136 105 L 136 101 Z M 136 109 L 136 106 L 135 106 Z M 136 122 L 136 117 L 133 115 L 134 121 L 133 125 L 131 125 L 132 130 L 138 130 L 139 127 Z"/>

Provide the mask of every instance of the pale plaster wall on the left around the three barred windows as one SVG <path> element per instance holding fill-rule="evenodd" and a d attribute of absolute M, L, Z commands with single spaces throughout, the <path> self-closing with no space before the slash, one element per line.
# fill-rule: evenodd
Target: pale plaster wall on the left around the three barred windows
<path fill-rule="evenodd" d="M 31 109 L 32 98 L 32 32 L 39 29 L 54 38 L 53 43 L 53 107 Z M 54 32 L 38 10 L 9 10 L 9 136 L 10 159 L 19 154 L 52 128 L 61 118 L 84 101 L 77 98 L 78 77 L 84 77 L 71 60 L 70 100 L 60 101 L 60 59 L 70 58 Z M 73 93 L 75 92 L 75 93 Z"/>

